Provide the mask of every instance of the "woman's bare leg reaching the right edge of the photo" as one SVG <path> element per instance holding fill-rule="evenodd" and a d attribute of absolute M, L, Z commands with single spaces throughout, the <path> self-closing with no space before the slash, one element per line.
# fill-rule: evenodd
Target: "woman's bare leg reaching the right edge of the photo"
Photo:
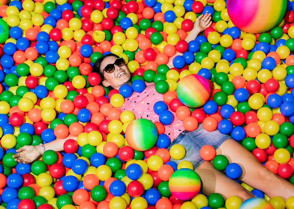
<path fill-rule="evenodd" d="M 233 139 L 226 140 L 216 154 L 225 155 L 230 163 L 242 168 L 240 180 L 263 191 L 268 197 L 280 196 L 284 200 L 294 196 L 294 185 L 265 168 L 247 149 Z"/>

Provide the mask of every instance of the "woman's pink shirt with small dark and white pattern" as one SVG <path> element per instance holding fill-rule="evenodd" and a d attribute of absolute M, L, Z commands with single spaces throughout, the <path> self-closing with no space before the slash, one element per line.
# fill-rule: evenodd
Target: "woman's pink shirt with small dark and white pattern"
<path fill-rule="evenodd" d="M 158 101 L 163 101 L 163 94 L 157 93 L 154 83 L 146 83 L 146 88 L 141 93 L 133 92 L 129 98 L 125 98 L 122 111 L 128 110 L 134 113 L 136 119 L 145 118 L 154 122 L 159 122 L 158 115 L 153 112 L 153 105 Z M 165 134 L 176 139 L 184 130 L 183 121 L 179 120 L 176 113 L 172 112 L 175 119 L 170 125 L 165 125 Z"/>

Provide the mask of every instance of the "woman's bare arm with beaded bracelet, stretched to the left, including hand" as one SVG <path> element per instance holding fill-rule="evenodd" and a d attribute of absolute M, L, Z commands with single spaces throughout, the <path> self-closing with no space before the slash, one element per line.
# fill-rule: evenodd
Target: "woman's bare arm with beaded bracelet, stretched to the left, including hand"
<path fill-rule="evenodd" d="M 72 135 L 69 135 L 68 137 L 64 139 L 56 139 L 52 142 L 48 142 L 44 144 L 45 151 L 46 150 L 54 150 L 56 152 L 63 151 L 63 145 L 64 142 L 68 139 L 77 140 L 78 137 L 74 137 Z M 41 145 L 26 145 L 21 147 L 20 149 L 16 150 L 16 154 L 14 154 L 12 157 L 14 157 L 15 161 L 18 161 L 19 163 L 29 164 L 36 160 L 39 156 L 43 155 L 43 149 Z"/>

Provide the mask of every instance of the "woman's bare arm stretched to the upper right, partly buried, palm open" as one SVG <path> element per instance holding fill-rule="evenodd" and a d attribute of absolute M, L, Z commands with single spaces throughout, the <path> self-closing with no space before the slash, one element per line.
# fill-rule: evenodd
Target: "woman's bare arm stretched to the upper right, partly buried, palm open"
<path fill-rule="evenodd" d="M 199 35 L 199 33 L 201 33 L 203 30 L 211 26 L 211 24 L 212 24 L 211 13 L 200 15 L 196 19 L 193 29 L 188 33 L 187 37 L 185 38 L 185 41 L 189 43 L 190 41 L 195 40 L 196 37 Z M 173 68 L 173 58 L 178 55 L 183 55 L 183 54 L 180 52 L 177 52 L 173 57 L 169 58 L 169 62 L 167 64 L 169 68 Z"/>

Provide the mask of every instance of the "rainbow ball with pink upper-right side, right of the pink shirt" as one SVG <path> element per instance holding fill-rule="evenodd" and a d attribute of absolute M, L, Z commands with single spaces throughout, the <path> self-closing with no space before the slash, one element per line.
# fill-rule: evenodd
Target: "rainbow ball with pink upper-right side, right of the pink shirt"
<path fill-rule="evenodd" d="M 187 107 L 201 107 L 208 101 L 210 93 L 210 84 L 200 75 L 187 75 L 178 82 L 178 99 Z"/>

